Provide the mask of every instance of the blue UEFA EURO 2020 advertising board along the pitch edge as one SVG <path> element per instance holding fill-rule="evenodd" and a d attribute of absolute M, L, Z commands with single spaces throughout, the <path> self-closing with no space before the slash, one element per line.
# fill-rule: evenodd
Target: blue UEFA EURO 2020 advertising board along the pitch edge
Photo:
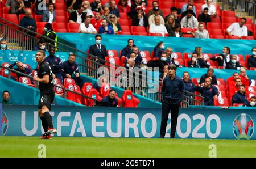
<path fill-rule="evenodd" d="M 34 105 L 3 105 L 2 136 L 41 136 L 37 111 Z M 50 113 L 55 137 L 159 138 L 160 108 L 53 106 Z M 176 138 L 256 139 L 255 121 L 255 109 L 180 109 Z"/>

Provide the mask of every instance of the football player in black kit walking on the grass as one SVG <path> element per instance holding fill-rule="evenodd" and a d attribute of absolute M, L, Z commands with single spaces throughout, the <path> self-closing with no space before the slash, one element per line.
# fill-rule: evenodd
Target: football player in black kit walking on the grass
<path fill-rule="evenodd" d="M 46 53 L 43 50 L 36 52 L 36 62 L 38 62 L 38 77 L 33 77 L 34 81 L 39 82 L 40 100 L 38 113 L 44 128 L 42 138 L 51 139 L 51 134 L 57 133 L 53 128 L 52 116 L 49 114 L 51 104 L 54 100 L 55 92 L 53 89 L 53 74 L 49 64 L 44 61 Z"/>

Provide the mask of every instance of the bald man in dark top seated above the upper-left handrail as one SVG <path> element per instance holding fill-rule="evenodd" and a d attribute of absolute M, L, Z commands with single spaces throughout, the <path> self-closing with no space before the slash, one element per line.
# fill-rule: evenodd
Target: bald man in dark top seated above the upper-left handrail
<path fill-rule="evenodd" d="M 24 30 L 28 35 L 36 36 L 36 34 L 34 33 L 36 32 L 36 22 L 35 19 L 32 18 L 32 11 L 30 9 L 26 9 L 25 12 L 26 16 L 24 16 L 20 20 L 19 26 L 29 29 L 30 31 Z"/>

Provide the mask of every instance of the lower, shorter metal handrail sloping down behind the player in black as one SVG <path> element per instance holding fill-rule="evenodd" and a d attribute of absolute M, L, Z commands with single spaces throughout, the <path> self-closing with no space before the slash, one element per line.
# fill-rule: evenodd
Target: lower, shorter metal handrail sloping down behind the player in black
<path fill-rule="evenodd" d="M 33 78 L 31 75 L 24 74 L 24 73 L 22 73 L 22 72 L 20 72 L 20 71 L 16 71 L 16 70 L 11 69 L 11 68 L 9 68 L 9 67 L 5 67 L 5 66 L 2 66 L 2 65 L 0 65 L 0 67 L 1 67 L 2 69 L 7 69 L 7 70 L 9 70 L 8 79 L 10 79 L 10 78 L 11 78 L 10 71 L 12 71 L 12 72 L 14 72 L 14 73 L 16 73 L 16 74 L 20 74 L 20 75 L 22 75 L 23 77 Z M 68 91 L 68 92 L 72 92 L 73 94 L 80 95 L 80 96 L 82 96 L 83 98 L 92 99 L 94 102 L 96 101 L 96 99 L 90 98 L 89 96 L 82 95 L 82 94 L 80 94 L 80 93 L 78 93 L 78 92 L 75 92 L 75 91 L 69 90 L 69 89 L 67 89 L 67 88 L 64 88 L 64 87 L 58 86 L 58 85 L 56 85 L 56 84 L 53 84 L 53 86 L 58 87 L 58 88 L 61 88 L 61 89 L 63 89 L 63 90 L 64 90 L 64 98 L 65 98 L 65 99 L 66 99 L 66 97 L 65 97 L 65 96 L 67 95 L 67 94 L 65 94 L 65 93 L 67 93 L 67 91 Z M 36 87 L 37 87 L 37 85 L 36 85 Z"/>

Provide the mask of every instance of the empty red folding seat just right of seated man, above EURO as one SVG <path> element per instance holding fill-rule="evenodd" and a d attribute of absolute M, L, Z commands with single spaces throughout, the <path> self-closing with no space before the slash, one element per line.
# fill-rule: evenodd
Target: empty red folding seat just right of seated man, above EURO
<path fill-rule="evenodd" d="M 138 107 L 139 99 L 135 98 L 131 90 L 125 90 L 122 95 L 123 107 Z"/>

